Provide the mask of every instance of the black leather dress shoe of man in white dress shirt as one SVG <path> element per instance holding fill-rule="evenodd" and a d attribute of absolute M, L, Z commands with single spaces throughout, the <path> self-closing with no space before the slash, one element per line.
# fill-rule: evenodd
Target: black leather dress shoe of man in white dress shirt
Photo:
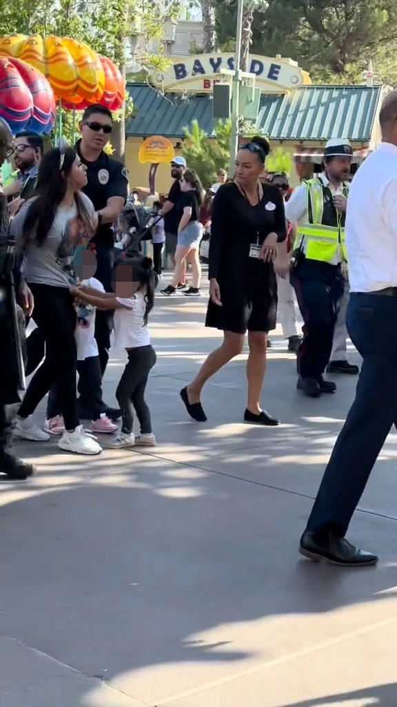
<path fill-rule="evenodd" d="M 336 537 L 332 532 L 321 538 L 314 532 L 304 532 L 300 539 L 299 551 L 314 562 L 326 560 L 332 565 L 345 567 L 376 565 L 379 559 L 377 555 L 358 549 L 344 537 Z"/>

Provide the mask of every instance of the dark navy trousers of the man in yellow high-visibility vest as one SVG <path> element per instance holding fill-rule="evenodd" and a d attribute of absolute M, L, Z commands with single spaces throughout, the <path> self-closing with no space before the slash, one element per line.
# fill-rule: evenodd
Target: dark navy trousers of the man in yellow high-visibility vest
<path fill-rule="evenodd" d="M 304 321 L 297 355 L 297 372 L 318 379 L 331 356 L 338 304 L 343 296 L 343 276 L 338 265 L 304 259 L 292 271 L 290 282 Z"/>

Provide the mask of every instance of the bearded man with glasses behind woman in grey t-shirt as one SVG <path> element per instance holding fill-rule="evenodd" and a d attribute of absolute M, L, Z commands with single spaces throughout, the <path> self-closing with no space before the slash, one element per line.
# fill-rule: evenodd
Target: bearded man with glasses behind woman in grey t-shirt
<path fill-rule="evenodd" d="M 15 216 L 23 202 L 30 199 L 35 191 L 43 149 L 44 141 L 41 135 L 29 130 L 16 135 L 13 161 L 18 173 L 16 179 L 4 189 L 9 199 L 10 216 Z"/>

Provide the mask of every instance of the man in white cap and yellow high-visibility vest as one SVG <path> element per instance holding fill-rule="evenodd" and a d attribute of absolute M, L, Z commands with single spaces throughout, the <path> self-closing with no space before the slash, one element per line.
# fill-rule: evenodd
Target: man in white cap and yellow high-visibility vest
<path fill-rule="evenodd" d="M 346 262 L 345 212 L 352 162 L 348 140 L 330 140 L 324 151 L 324 172 L 295 189 L 285 216 L 297 224 L 291 284 L 304 320 L 297 355 L 297 387 L 309 397 L 335 392 L 324 380 L 343 297 L 342 264 Z"/>

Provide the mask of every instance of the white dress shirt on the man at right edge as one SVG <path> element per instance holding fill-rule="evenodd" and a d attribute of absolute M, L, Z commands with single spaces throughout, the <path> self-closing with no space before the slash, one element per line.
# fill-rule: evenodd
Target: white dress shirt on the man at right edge
<path fill-rule="evenodd" d="M 382 142 L 352 180 L 345 226 L 350 292 L 397 287 L 397 147 Z"/>

